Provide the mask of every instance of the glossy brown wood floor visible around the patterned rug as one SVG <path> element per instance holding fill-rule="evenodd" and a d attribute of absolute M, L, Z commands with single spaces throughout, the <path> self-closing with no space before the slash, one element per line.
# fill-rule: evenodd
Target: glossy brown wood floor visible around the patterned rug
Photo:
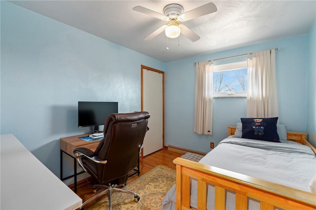
<path fill-rule="evenodd" d="M 141 175 L 144 175 L 149 170 L 155 168 L 158 165 L 163 165 L 171 169 L 176 169 L 172 161 L 175 158 L 180 157 L 181 155 L 182 155 L 181 153 L 169 151 L 166 148 L 163 148 L 150 155 L 147 155 L 140 159 Z M 138 177 L 137 175 L 133 175 L 129 177 L 127 180 L 127 184 L 131 182 L 132 180 L 136 179 L 137 177 Z M 94 193 L 92 192 L 92 184 L 89 183 L 90 181 L 91 180 L 87 179 L 78 184 L 77 195 L 82 199 L 82 202 L 86 201 L 87 199 L 89 199 L 91 196 L 94 195 Z M 73 189 L 73 187 L 71 188 Z M 105 197 L 106 195 L 103 195 L 103 196 L 98 197 L 97 199 L 92 200 L 91 202 L 86 204 L 84 208 L 92 206 L 93 204 L 102 200 Z"/>

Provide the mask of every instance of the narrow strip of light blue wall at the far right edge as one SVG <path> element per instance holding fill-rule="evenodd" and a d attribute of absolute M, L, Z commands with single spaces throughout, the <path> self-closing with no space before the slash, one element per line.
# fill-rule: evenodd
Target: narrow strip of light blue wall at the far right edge
<path fill-rule="evenodd" d="M 308 33 L 307 133 L 316 146 L 316 21 Z"/>

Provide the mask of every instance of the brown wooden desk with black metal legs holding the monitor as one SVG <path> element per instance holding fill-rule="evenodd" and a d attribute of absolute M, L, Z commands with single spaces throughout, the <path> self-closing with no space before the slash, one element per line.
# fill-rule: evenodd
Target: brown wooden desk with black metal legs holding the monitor
<path fill-rule="evenodd" d="M 60 179 L 63 181 L 71 177 L 74 177 L 75 193 L 77 193 L 77 175 L 84 173 L 84 171 L 77 173 L 77 160 L 74 156 L 74 149 L 78 147 L 85 147 L 94 151 L 100 142 L 100 140 L 93 140 L 93 141 L 87 142 L 87 141 L 79 139 L 79 137 L 86 137 L 88 135 L 89 134 L 83 134 L 83 135 L 78 135 L 78 136 L 73 136 L 73 137 L 60 138 Z M 70 157 L 74 159 L 74 175 L 63 177 L 63 153 L 69 155 Z"/>

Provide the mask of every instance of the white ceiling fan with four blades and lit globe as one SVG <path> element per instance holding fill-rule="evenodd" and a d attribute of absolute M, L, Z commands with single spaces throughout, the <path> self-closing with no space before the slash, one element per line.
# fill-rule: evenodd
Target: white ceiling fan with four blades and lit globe
<path fill-rule="evenodd" d="M 156 17 L 161 20 L 165 20 L 168 23 L 168 25 L 163 25 L 155 32 L 148 35 L 146 38 L 144 38 L 145 40 L 150 40 L 159 35 L 161 32 L 165 31 L 165 35 L 169 38 L 176 38 L 180 35 L 180 33 L 182 33 L 183 35 L 191 39 L 191 41 L 197 41 L 200 37 L 185 25 L 179 24 L 179 22 L 185 22 L 199 16 L 216 12 L 217 7 L 214 3 L 209 2 L 183 13 L 183 7 L 180 4 L 172 3 L 166 5 L 163 8 L 163 14 L 160 14 L 143 6 L 135 6 L 133 10 Z"/>

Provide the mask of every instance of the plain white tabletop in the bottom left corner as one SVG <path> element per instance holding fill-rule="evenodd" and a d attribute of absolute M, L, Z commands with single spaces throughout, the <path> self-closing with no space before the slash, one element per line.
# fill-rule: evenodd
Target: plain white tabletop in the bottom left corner
<path fill-rule="evenodd" d="M 0 136 L 0 147 L 1 210 L 75 210 L 81 206 L 81 198 L 12 134 Z"/>

